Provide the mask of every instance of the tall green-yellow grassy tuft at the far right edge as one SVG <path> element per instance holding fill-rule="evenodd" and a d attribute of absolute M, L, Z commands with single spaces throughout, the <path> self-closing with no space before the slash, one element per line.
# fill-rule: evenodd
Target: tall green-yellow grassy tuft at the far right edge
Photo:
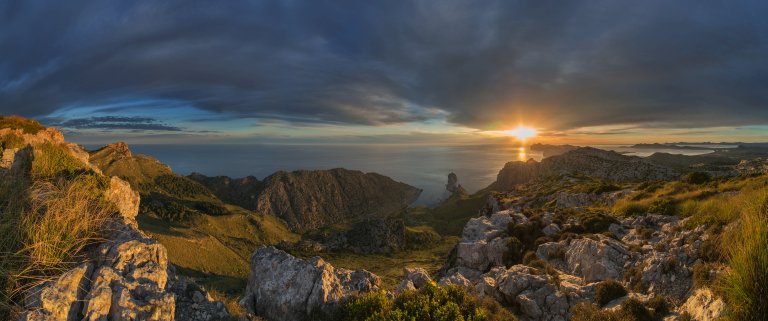
<path fill-rule="evenodd" d="M 727 238 L 730 269 L 719 278 L 733 320 L 768 319 L 768 194 L 744 207 L 741 221 Z"/>

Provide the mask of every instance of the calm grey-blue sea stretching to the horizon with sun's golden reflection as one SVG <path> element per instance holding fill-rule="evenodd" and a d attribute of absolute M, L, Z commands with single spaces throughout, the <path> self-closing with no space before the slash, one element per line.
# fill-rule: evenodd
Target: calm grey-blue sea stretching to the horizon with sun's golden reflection
<path fill-rule="evenodd" d="M 686 155 L 712 150 L 648 149 L 620 145 L 593 147 L 627 155 L 648 156 L 654 152 Z M 96 149 L 98 146 L 86 146 Z M 716 149 L 714 147 L 713 149 Z M 259 179 L 279 171 L 355 169 L 389 176 L 421 188 L 416 205 L 434 205 L 446 198 L 445 184 L 453 172 L 467 191 L 475 192 L 496 180 L 496 174 L 509 161 L 541 160 L 540 152 L 511 145 L 131 145 L 134 153 L 146 154 L 171 166 L 174 172 L 208 176 L 226 175 Z"/>

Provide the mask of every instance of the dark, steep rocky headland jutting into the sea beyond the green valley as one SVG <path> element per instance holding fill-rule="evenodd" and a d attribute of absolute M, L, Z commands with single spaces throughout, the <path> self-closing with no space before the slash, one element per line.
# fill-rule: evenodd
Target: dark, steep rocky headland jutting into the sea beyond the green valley
<path fill-rule="evenodd" d="M 385 217 L 421 194 L 420 189 L 383 175 L 342 168 L 279 171 L 263 181 L 201 174 L 189 177 L 227 202 L 282 218 L 297 232 Z"/>

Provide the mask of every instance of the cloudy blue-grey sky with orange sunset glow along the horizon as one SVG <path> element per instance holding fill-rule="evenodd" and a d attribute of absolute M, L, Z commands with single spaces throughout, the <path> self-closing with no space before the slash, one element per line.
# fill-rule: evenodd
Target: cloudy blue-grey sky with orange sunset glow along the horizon
<path fill-rule="evenodd" d="M 768 1 L 4 0 L 0 114 L 80 143 L 768 141 Z"/>

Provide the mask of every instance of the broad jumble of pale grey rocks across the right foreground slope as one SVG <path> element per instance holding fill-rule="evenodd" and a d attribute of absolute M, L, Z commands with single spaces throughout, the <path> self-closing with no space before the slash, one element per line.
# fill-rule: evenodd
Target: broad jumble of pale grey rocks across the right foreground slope
<path fill-rule="evenodd" d="M 684 229 L 685 221 L 675 216 L 631 217 L 612 224 L 611 237 L 574 235 L 537 245 L 535 259 L 540 263 L 536 267 L 507 266 L 509 233 L 512 226 L 521 224 L 533 224 L 541 235 L 556 237 L 581 222 L 571 218 L 556 223 L 551 214 L 532 219 L 514 210 L 470 219 L 457 245 L 455 262 L 446 267 L 439 283 L 457 284 L 519 307 L 521 320 L 567 320 L 571 307 L 594 301 L 595 286 L 605 280 L 642 288 L 647 293 L 638 294 L 643 300 L 662 296 L 672 302 L 706 301 L 714 311 L 706 313 L 722 313 L 722 301 L 716 297 L 690 293 L 693 265 L 707 240 L 703 227 Z"/>

